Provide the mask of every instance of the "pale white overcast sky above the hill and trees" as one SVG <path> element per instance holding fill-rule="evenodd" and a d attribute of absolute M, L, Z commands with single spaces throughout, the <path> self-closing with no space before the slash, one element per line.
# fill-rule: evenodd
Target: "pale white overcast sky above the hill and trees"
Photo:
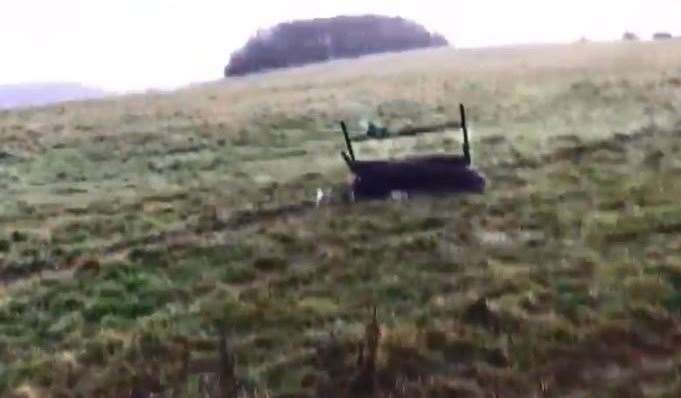
<path fill-rule="evenodd" d="M 456 47 L 681 34 L 681 0 L 0 0 L 0 84 L 215 80 L 258 28 L 362 13 L 413 19 Z"/>

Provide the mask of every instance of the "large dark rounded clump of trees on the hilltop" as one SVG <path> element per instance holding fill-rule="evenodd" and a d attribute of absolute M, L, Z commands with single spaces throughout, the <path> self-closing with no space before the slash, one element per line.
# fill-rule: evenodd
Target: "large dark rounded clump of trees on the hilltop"
<path fill-rule="evenodd" d="M 225 76 L 446 45 L 442 35 L 400 17 L 364 15 L 294 21 L 259 31 L 232 54 Z"/>

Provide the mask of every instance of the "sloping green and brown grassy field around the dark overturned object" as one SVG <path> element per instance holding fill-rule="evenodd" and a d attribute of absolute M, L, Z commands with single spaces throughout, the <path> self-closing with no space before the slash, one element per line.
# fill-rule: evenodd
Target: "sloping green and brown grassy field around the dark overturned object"
<path fill-rule="evenodd" d="M 309 205 L 347 181 L 340 119 L 437 123 L 460 102 L 487 193 Z M 0 396 L 211 396 L 221 331 L 241 396 L 360 396 L 374 307 L 375 396 L 681 396 L 679 115 L 678 41 L 0 112 Z M 458 153 L 460 133 L 355 151 Z"/>

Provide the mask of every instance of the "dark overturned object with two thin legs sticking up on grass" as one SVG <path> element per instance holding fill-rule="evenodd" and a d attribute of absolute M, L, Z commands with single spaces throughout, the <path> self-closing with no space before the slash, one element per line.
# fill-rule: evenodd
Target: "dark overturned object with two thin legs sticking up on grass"
<path fill-rule="evenodd" d="M 354 174 L 352 191 L 355 198 L 386 198 L 392 192 L 412 193 L 483 193 L 485 179 L 470 168 L 466 113 L 463 104 L 463 156 L 427 155 L 401 160 L 356 160 L 347 127 L 341 122 L 348 152 L 341 152 Z"/>

